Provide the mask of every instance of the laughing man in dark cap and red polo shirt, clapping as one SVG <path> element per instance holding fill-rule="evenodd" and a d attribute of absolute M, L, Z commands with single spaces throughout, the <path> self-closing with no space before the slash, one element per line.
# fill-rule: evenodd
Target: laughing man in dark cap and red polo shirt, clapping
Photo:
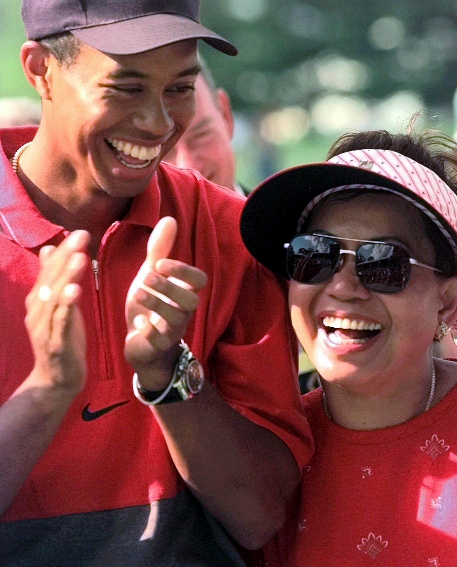
<path fill-rule="evenodd" d="M 197 39 L 235 49 L 198 0 L 22 14 L 43 115 L 0 131 L 0 564 L 240 565 L 312 450 L 285 298 L 242 198 L 160 164 Z"/>

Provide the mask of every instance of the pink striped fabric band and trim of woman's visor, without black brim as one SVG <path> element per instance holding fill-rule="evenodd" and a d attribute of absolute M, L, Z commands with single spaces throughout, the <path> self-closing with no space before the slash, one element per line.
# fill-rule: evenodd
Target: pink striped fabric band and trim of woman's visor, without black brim
<path fill-rule="evenodd" d="M 379 185 L 354 183 L 332 187 L 318 194 L 307 204 L 299 219 L 298 231 L 311 210 L 329 195 L 347 189 L 380 189 L 403 197 L 425 213 L 446 236 L 457 257 L 457 195 L 434 171 L 392 150 L 348 151 L 336 155 L 325 163 L 370 171 L 401 185 L 401 191 L 397 191 L 392 186 L 383 187 L 381 179 L 379 179 Z M 407 189 L 407 192 L 404 189 Z M 444 223 L 443 220 L 447 222 Z M 454 231 L 453 236 L 450 234 L 449 228 Z"/>

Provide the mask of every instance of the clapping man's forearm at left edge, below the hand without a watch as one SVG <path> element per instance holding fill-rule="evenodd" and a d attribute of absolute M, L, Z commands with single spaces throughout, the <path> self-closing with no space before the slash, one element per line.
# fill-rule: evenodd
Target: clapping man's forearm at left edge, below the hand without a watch
<path fill-rule="evenodd" d="M 74 393 L 33 373 L 0 408 L 0 516 L 56 435 Z"/>

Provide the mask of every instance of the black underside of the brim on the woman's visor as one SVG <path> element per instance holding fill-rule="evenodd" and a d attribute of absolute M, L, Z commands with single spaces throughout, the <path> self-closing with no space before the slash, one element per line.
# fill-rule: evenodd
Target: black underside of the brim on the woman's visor
<path fill-rule="evenodd" d="M 246 248 L 266 268 L 289 279 L 284 244 L 297 234 L 304 208 L 328 189 L 354 184 L 385 187 L 419 202 L 439 218 L 457 243 L 457 235 L 446 219 L 403 185 L 358 167 L 312 163 L 274 174 L 249 194 L 240 220 Z"/>

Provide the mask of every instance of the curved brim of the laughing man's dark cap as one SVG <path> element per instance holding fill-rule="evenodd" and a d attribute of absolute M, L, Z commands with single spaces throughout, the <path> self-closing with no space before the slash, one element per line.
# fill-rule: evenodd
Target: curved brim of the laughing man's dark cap
<path fill-rule="evenodd" d="M 188 39 L 202 39 L 227 55 L 238 53 L 234 45 L 217 33 L 174 14 L 150 14 L 69 31 L 83 43 L 112 55 L 143 53 Z"/>

